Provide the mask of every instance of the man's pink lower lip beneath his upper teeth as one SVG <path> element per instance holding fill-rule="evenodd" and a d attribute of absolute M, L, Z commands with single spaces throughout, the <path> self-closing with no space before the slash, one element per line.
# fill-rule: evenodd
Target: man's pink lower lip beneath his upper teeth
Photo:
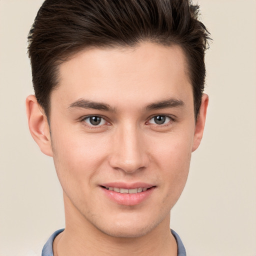
<path fill-rule="evenodd" d="M 108 190 L 104 187 L 100 187 L 105 195 L 114 201 L 115 203 L 122 204 L 122 205 L 137 205 L 139 203 L 142 203 L 144 200 L 146 200 L 155 187 L 150 187 L 146 191 L 142 191 L 139 193 L 129 194 L 129 193 L 118 193 L 113 190 Z"/>

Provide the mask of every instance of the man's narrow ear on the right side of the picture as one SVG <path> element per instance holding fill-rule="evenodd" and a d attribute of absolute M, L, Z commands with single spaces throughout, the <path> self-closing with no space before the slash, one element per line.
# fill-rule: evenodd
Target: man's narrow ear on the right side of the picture
<path fill-rule="evenodd" d="M 199 146 L 202 139 L 208 101 L 209 101 L 209 97 L 207 94 L 204 93 L 202 95 L 200 110 L 195 123 L 192 152 Z"/>

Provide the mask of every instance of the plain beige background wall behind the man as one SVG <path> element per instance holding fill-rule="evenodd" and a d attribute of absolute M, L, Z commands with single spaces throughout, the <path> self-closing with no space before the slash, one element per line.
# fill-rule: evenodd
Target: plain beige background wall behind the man
<path fill-rule="evenodd" d="M 25 116 L 26 35 L 41 2 L 0 0 L 0 256 L 40 255 L 64 226 L 52 159 L 32 140 Z M 210 103 L 171 227 L 188 256 L 255 256 L 256 1 L 199 3 L 214 38 L 206 56 Z"/>

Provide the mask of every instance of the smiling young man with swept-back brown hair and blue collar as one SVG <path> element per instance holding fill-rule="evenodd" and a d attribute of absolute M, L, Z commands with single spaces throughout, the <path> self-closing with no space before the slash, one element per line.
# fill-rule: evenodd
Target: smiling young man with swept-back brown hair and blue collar
<path fill-rule="evenodd" d="M 45 0 L 29 33 L 31 135 L 65 229 L 42 255 L 185 255 L 169 229 L 201 140 L 208 32 L 188 0 Z"/>

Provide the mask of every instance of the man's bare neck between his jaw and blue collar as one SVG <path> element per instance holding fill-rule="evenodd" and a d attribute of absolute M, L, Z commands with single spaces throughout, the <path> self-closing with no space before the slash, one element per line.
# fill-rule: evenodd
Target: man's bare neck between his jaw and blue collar
<path fill-rule="evenodd" d="M 66 206 L 65 202 L 66 227 L 54 239 L 54 256 L 177 255 L 176 241 L 169 229 L 170 214 L 145 235 L 127 238 L 103 233 L 75 207 Z"/>

